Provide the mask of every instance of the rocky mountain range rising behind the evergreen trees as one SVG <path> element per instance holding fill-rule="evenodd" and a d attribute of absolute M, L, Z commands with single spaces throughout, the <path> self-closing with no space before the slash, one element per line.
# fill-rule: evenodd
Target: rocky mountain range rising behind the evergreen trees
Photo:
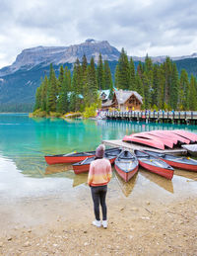
<path fill-rule="evenodd" d="M 37 46 L 24 49 L 12 65 L 0 69 L 0 111 L 8 108 L 19 111 L 23 109 L 22 105 L 26 106 L 27 111 L 31 111 L 35 90 L 40 85 L 40 78 L 45 74 L 48 75 L 50 63 L 53 63 L 56 74 L 61 64 L 67 65 L 72 71 L 76 59 L 82 60 L 84 54 L 89 62 L 94 56 L 97 63 L 99 52 L 103 60 L 108 60 L 114 79 L 115 66 L 120 52 L 106 41 L 87 40 L 85 43 L 70 46 Z M 197 54 L 193 53 L 190 56 L 172 57 L 172 59 L 179 72 L 185 68 L 189 75 L 193 73 L 197 76 L 196 56 Z M 144 61 L 145 57 L 134 56 L 133 59 L 137 67 L 139 61 Z M 152 59 L 154 62 L 161 63 L 165 56 L 152 57 Z"/>

